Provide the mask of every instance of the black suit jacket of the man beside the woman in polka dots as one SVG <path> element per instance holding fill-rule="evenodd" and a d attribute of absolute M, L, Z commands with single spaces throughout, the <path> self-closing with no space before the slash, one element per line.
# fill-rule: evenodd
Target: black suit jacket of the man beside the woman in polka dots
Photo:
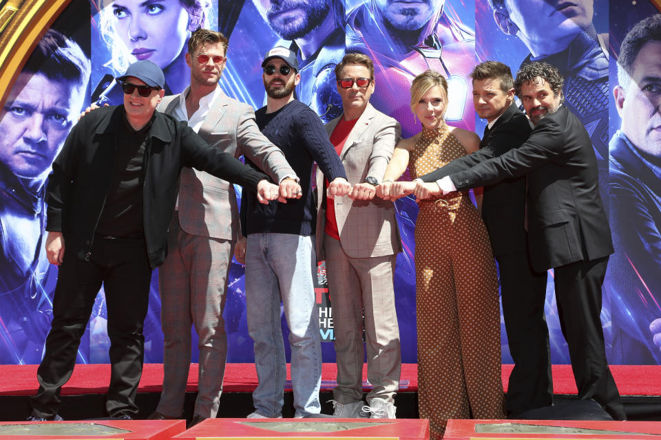
<path fill-rule="evenodd" d="M 512 104 L 494 123 L 482 142 L 480 150 L 459 157 L 449 164 L 423 175 L 423 181 L 437 181 L 442 177 L 467 170 L 487 159 L 510 151 L 530 135 L 532 128 L 523 113 Z M 485 186 L 482 218 L 489 232 L 494 256 L 525 251 L 523 211 L 525 209 L 525 178 L 505 179 L 499 184 Z"/>

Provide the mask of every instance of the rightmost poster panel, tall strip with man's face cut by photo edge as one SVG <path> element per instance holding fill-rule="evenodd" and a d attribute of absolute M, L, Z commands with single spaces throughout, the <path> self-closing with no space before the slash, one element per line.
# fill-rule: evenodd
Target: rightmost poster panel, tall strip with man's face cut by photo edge
<path fill-rule="evenodd" d="M 638 3 L 611 5 L 609 31 L 611 362 L 660 364 L 661 15 Z"/>

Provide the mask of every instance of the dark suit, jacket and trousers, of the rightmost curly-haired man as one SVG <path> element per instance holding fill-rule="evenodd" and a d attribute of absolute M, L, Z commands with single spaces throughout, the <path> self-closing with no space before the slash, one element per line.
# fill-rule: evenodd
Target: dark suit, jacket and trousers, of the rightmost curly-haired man
<path fill-rule="evenodd" d="M 536 272 L 554 269 L 560 327 L 578 397 L 598 401 L 615 419 L 624 408 L 608 368 L 601 327 L 601 285 L 611 231 L 599 196 L 590 138 L 566 106 L 543 118 L 527 142 L 450 176 L 457 190 L 527 175 L 529 256 Z"/>

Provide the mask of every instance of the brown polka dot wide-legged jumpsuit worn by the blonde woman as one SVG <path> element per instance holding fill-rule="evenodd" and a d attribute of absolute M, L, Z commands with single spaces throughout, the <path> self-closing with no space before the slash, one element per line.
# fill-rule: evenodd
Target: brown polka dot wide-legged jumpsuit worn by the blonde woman
<path fill-rule="evenodd" d="M 413 179 L 466 154 L 448 130 L 423 129 Z M 420 417 L 440 439 L 448 419 L 505 417 L 500 309 L 487 230 L 468 192 L 419 203 L 415 225 Z"/>

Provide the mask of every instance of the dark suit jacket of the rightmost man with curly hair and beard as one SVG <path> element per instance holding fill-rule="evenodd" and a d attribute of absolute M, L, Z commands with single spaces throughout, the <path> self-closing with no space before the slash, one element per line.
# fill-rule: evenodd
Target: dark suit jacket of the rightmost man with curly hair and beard
<path fill-rule="evenodd" d="M 528 245 L 537 272 L 613 253 L 589 135 L 567 106 L 543 118 L 528 140 L 450 175 L 458 190 L 527 174 Z"/>

